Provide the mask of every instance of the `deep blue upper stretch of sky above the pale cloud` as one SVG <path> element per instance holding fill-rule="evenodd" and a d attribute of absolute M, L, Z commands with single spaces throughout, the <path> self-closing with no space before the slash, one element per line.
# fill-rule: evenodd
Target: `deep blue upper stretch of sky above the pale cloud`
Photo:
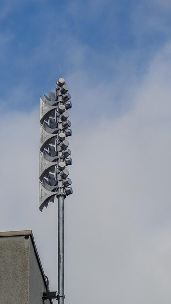
<path fill-rule="evenodd" d="M 164 1 L 1 0 L 0 6 L 0 96 L 9 109 L 33 109 L 61 64 L 64 77 L 84 71 L 90 85 L 122 74 L 127 83 L 133 75 L 141 79 L 171 35 L 171 6 Z M 22 88 L 24 100 L 14 103 L 9 87 L 16 95 Z"/>

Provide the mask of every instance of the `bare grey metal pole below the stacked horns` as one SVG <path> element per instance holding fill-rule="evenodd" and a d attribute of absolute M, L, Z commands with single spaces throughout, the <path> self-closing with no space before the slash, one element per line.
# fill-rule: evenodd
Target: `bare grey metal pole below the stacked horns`
<path fill-rule="evenodd" d="M 58 196 L 58 303 L 64 304 L 64 195 Z"/>

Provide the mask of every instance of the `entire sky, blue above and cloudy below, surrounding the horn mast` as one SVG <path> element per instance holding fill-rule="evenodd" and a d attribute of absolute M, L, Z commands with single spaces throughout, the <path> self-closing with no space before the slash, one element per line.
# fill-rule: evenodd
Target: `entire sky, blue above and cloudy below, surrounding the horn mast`
<path fill-rule="evenodd" d="M 0 230 L 32 229 L 52 291 L 57 202 L 38 210 L 39 100 L 61 64 L 71 93 L 66 304 L 87 291 L 94 304 L 170 304 L 170 16 L 170 0 L 0 0 Z"/>

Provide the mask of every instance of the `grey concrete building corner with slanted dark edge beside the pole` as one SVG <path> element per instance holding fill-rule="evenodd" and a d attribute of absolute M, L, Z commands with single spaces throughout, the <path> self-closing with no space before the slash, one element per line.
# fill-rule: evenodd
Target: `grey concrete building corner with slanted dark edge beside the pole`
<path fill-rule="evenodd" d="M 32 236 L 0 236 L 0 304 L 43 304 L 44 291 L 46 283 Z"/>

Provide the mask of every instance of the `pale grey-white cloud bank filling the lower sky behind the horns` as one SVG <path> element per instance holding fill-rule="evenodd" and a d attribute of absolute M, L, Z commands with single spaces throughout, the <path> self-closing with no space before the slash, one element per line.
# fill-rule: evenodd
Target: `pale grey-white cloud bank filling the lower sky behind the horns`
<path fill-rule="evenodd" d="M 96 123 L 89 119 L 86 124 L 86 115 L 97 101 L 102 113 L 102 105 L 108 105 L 103 86 L 88 86 L 92 79 L 83 73 L 77 95 L 80 74 L 72 81 L 68 77 L 74 104 L 69 139 L 74 194 L 65 203 L 66 303 L 77 298 L 85 304 L 87 297 L 93 303 L 170 303 L 170 61 L 169 45 L 139 85 L 133 83 L 129 94 L 124 91 L 120 116 L 104 113 Z M 85 82 L 89 92 L 82 94 L 81 125 L 72 111 L 81 110 Z M 110 96 L 112 82 L 105 89 Z M 57 206 L 38 210 L 38 109 L 8 113 L 0 127 L 0 230 L 33 230 L 51 290 L 56 290 Z"/>

